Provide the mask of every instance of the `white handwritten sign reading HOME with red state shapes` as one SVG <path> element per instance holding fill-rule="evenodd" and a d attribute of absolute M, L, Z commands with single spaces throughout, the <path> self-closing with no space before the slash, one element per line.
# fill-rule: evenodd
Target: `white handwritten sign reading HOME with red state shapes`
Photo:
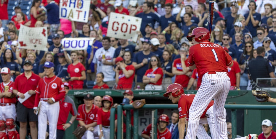
<path fill-rule="evenodd" d="M 48 51 L 47 46 L 47 27 L 30 28 L 21 25 L 18 34 L 20 49 L 34 49 Z"/>

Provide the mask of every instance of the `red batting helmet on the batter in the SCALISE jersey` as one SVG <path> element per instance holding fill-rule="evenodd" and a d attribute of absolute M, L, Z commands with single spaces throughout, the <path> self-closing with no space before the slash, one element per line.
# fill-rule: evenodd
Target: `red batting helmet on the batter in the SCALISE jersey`
<path fill-rule="evenodd" d="M 188 35 L 187 39 L 192 41 L 192 37 L 195 37 L 195 41 L 202 42 L 211 39 L 211 33 L 207 28 L 197 27 L 192 30 L 192 35 Z"/>

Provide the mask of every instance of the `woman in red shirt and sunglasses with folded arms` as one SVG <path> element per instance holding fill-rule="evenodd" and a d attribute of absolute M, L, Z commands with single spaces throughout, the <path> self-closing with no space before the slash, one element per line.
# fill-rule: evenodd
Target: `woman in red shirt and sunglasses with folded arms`
<path fill-rule="evenodd" d="M 143 76 L 143 83 L 147 84 L 145 90 L 162 90 L 163 70 L 157 56 L 151 56 L 149 69 Z"/>

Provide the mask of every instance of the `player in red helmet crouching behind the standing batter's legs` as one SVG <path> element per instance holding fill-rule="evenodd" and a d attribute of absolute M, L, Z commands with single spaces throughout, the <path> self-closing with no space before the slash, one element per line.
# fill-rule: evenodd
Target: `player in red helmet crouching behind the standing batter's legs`
<path fill-rule="evenodd" d="M 178 122 L 178 130 L 185 130 L 185 119 L 189 121 L 189 113 L 191 111 L 191 105 L 194 102 L 195 94 L 185 94 L 182 85 L 178 83 L 173 83 L 168 86 L 167 92 L 163 94 L 165 97 L 169 97 L 172 103 L 178 103 L 178 111 L 179 111 L 179 122 Z M 206 109 L 204 109 L 203 114 L 199 117 L 199 125 L 198 130 L 196 132 L 196 136 L 198 138 L 211 139 L 211 137 L 206 132 L 203 124 L 208 124 L 211 130 L 211 136 L 213 138 L 218 137 L 218 132 L 215 131 L 215 115 L 213 111 L 214 101 L 212 100 L 208 103 Z M 226 110 L 223 110 L 223 114 L 226 116 Z M 190 117 L 191 118 L 191 117 Z M 189 125 L 189 124 L 188 124 Z M 186 125 L 187 129 L 187 125 Z M 221 129 L 221 132 L 225 132 L 227 135 L 227 129 Z M 237 138 L 237 139 L 258 139 L 257 134 L 249 134 L 248 136 Z M 184 137 L 184 132 L 179 132 L 179 138 Z M 187 138 L 187 135 L 186 135 Z M 226 137 L 228 139 L 228 137 Z"/>

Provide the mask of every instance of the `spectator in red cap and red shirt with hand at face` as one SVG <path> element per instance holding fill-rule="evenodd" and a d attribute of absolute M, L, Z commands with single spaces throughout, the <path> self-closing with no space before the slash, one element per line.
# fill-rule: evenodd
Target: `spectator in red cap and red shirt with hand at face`
<path fill-rule="evenodd" d="M 132 88 L 132 83 L 135 75 L 135 68 L 133 65 L 127 65 L 122 57 L 115 59 L 117 89 L 126 90 Z"/>

